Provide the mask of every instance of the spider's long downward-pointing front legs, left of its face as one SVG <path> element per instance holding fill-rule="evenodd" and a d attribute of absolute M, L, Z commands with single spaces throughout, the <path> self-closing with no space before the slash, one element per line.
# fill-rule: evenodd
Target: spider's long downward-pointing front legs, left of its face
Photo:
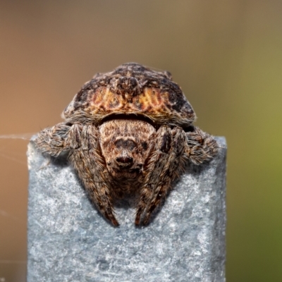
<path fill-rule="evenodd" d="M 92 202 L 114 226 L 113 200 L 109 190 L 109 175 L 99 152 L 99 132 L 94 125 L 74 124 L 70 132 L 71 152 L 68 156 Z"/>

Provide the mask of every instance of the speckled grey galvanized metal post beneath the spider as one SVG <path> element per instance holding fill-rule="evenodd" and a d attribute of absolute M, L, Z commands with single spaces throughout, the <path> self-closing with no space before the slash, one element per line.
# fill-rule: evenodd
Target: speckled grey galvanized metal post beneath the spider
<path fill-rule="evenodd" d="M 28 148 L 27 282 L 225 281 L 226 142 L 209 164 L 188 166 L 149 226 L 130 200 L 114 228 L 87 198 L 66 160 Z"/>

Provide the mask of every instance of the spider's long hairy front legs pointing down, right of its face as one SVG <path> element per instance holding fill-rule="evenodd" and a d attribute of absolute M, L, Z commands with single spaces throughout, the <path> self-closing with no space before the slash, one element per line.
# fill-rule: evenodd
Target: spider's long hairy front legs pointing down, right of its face
<path fill-rule="evenodd" d="M 135 224 L 149 222 L 152 212 L 159 206 L 171 188 L 171 182 L 185 164 L 186 136 L 182 128 L 162 126 L 157 131 L 154 152 L 149 158 L 145 185 L 140 193 Z"/>

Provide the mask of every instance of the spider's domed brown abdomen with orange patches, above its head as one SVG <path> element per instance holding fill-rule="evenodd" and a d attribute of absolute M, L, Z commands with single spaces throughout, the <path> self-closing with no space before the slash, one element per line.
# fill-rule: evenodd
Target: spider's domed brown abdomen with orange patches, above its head
<path fill-rule="evenodd" d="M 67 121 L 99 125 L 111 114 L 142 114 L 157 124 L 189 126 L 192 106 L 168 72 L 125 63 L 86 82 L 63 111 Z"/>

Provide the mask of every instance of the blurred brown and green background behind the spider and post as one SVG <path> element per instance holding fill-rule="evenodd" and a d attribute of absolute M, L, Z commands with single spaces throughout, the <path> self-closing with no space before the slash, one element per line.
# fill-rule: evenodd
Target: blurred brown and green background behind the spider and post
<path fill-rule="evenodd" d="M 0 1 L 0 135 L 60 122 L 128 61 L 171 71 L 226 136 L 227 281 L 282 281 L 282 1 Z M 26 145 L 0 139 L 0 281 L 25 281 Z"/>

